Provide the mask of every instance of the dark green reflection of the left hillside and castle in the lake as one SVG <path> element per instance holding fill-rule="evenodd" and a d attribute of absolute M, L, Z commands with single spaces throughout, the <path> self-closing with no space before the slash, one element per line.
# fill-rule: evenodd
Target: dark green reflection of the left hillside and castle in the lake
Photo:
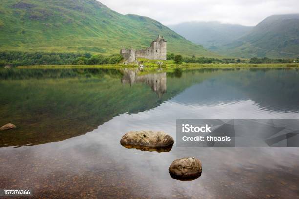
<path fill-rule="evenodd" d="M 136 79 L 127 78 L 134 83 L 126 84 L 130 73 Z M 176 84 L 166 93 L 166 78 L 166 73 L 139 76 L 126 69 L 0 70 L 0 89 L 5 93 L 0 123 L 18 126 L 13 134 L 1 133 L 0 146 L 79 136 L 117 115 L 157 107 L 192 84 Z"/>

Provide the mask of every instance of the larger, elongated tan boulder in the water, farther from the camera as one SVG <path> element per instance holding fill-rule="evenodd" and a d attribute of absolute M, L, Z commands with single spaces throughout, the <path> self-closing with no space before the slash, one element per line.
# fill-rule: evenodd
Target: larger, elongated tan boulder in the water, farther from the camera
<path fill-rule="evenodd" d="M 130 131 L 122 137 L 120 143 L 126 148 L 168 152 L 174 140 L 163 131 Z"/>

